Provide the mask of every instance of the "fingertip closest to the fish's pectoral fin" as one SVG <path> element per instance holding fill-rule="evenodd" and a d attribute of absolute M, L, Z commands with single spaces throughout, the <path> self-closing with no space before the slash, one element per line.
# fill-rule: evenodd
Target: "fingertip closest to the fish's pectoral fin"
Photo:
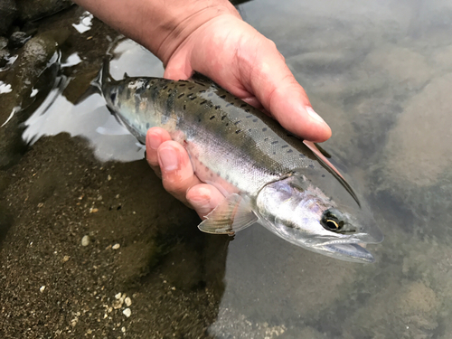
<path fill-rule="evenodd" d="M 205 216 L 224 200 L 224 195 L 212 184 L 197 184 L 188 190 L 186 198 L 201 219 L 205 219 Z"/>

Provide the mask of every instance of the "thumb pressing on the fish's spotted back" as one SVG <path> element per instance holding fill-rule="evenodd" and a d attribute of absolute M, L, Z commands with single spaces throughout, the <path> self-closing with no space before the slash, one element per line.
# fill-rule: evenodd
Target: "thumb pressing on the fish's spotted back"
<path fill-rule="evenodd" d="M 262 36 L 262 39 L 266 39 Z M 264 108 L 287 130 L 306 140 L 321 142 L 331 137 L 331 129 L 311 107 L 305 89 L 288 69 L 275 43 L 266 39 L 258 53 L 239 50 L 239 63 L 246 66 L 245 74 L 251 92 Z M 250 55 L 254 57 L 250 59 Z M 248 65 L 248 66 L 247 66 Z M 243 66 L 241 67 L 243 70 Z"/>

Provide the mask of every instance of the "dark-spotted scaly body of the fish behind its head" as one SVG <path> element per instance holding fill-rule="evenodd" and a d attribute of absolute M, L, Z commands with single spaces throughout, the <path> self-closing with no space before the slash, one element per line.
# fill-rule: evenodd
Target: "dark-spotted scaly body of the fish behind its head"
<path fill-rule="evenodd" d="M 130 80 L 126 87 L 124 99 L 115 95 L 126 108 L 120 118 L 142 142 L 149 127 L 165 128 L 187 148 L 205 182 L 221 179 L 240 192 L 257 193 L 268 181 L 297 168 L 319 166 L 296 137 L 221 88 L 152 78 Z M 210 177 L 198 173 L 196 163 L 207 166 Z"/>

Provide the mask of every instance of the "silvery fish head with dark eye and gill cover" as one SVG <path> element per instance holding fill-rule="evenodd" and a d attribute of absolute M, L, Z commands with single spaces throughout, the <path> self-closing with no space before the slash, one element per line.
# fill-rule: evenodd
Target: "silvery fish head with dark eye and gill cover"
<path fill-rule="evenodd" d="M 264 226 L 297 246 L 328 257 L 373 262 L 363 246 L 381 242 L 383 237 L 372 212 L 344 187 L 339 192 L 321 188 L 316 177 L 295 174 L 264 186 L 256 200 Z M 320 177 L 324 179 L 325 174 Z"/>

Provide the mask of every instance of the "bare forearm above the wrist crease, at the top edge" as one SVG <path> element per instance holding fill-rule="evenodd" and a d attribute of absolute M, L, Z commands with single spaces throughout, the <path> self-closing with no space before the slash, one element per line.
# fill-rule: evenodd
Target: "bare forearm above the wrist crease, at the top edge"
<path fill-rule="evenodd" d="M 203 24 L 222 14 L 240 18 L 228 0 L 73 1 L 145 46 L 165 64 L 178 46 Z"/>

